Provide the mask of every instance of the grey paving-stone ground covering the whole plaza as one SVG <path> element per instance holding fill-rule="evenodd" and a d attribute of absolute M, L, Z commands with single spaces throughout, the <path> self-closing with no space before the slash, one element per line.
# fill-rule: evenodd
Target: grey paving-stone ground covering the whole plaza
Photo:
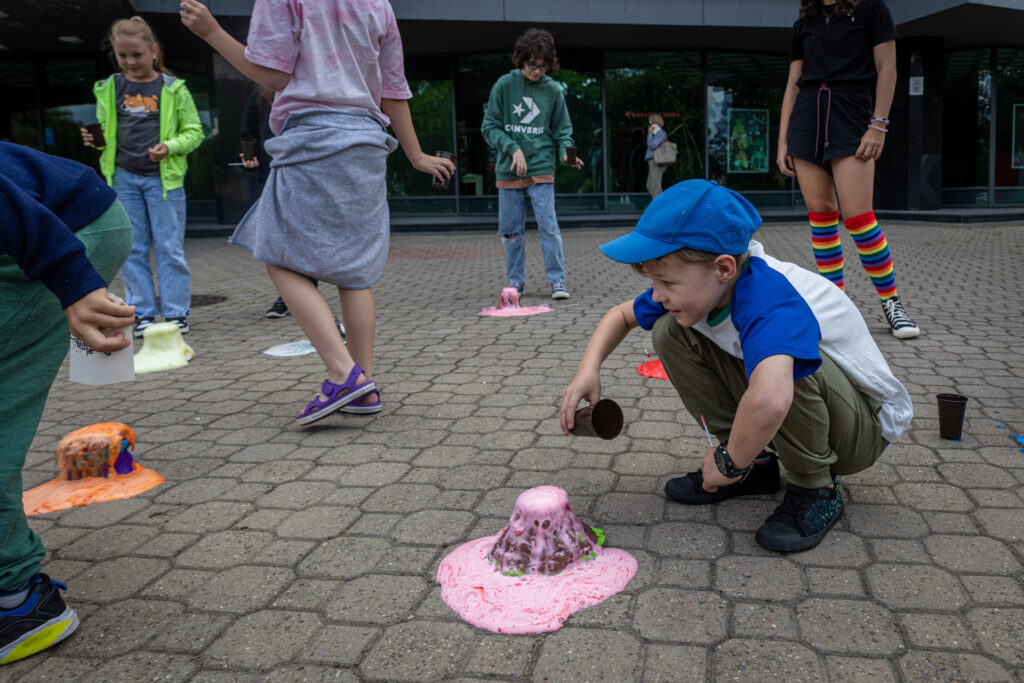
<path fill-rule="evenodd" d="M 1024 433 L 1024 227 L 884 227 L 923 336 L 891 337 L 844 233 L 849 293 L 916 417 L 842 481 L 837 529 L 791 556 L 753 539 L 781 494 L 703 508 L 664 498 L 705 436 L 668 382 L 636 374 L 646 333 L 602 376 L 624 434 L 561 435 L 558 397 L 589 333 L 646 287 L 597 251 L 624 230 L 567 232 L 572 299 L 525 318 L 476 314 L 503 286 L 496 237 L 395 237 L 375 290 L 385 411 L 305 429 L 292 418 L 323 379 L 316 356 L 264 355 L 302 335 L 262 317 L 274 294 L 261 266 L 222 240 L 190 241 L 194 292 L 227 297 L 194 310 L 196 359 L 110 387 L 72 385 L 63 369 L 26 471 L 27 486 L 42 483 L 60 436 L 117 420 L 167 482 L 34 519 L 82 625 L 0 678 L 1024 681 L 1024 453 L 1012 438 Z M 759 236 L 813 267 L 806 226 Z M 552 303 L 536 232 L 528 250 L 524 303 Z M 944 391 L 971 399 L 961 442 L 938 437 Z M 558 632 L 477 630 L 440 600 L 436 566 L 497 532 L 537 484 L 565 487 L 639 571 Z"/>

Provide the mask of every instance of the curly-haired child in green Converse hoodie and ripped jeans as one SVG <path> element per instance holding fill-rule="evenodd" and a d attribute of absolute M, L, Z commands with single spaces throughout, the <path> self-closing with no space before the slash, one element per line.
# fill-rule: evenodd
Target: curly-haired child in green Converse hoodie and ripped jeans
<path fill-rule="evenodd" d="M 505 245 L 509 287 L 526 287 L 526 197 L 541 231 L 544 270 L 552 299 L 568 299 L 562 236 L 555 216 L 555 155 L 569 164 L 572 123 L 561 87 L 547 74 L 558 70 L 555 40 L 543 29 L 528 29 L 512 50 L 515 69 L 490 89 L 480 129 L 498 152 L 498 233 Z M 583 161 L 569 164 L 583 168 Z"/>

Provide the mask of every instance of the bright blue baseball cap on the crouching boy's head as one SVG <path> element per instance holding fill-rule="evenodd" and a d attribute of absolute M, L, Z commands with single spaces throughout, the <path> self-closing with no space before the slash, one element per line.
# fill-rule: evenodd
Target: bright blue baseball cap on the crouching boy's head
<path fill-rule="evenodd" d="M 684 180 L 654 198 L 632 232 L 601 245 L 620 263 L 643 263 L 680 249 L 742 254 L 761 216 L 736 191 L 713 180 Z"/>

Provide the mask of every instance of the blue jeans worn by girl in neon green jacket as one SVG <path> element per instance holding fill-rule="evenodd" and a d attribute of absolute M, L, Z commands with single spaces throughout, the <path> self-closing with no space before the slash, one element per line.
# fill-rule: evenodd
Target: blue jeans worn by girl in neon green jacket
<path fill-rule="evenodd" d="M 118 168 L 114 189 L 132 224 L 131 254 L 121 267 L 125 298 L 135 315 L 157 315 L 157 289 L 150 267 L 150 246 L 157 256 L 160 309 L 165 318 L 185 317 L 191 305 L 191 285 L 185 263 L 185 190 L 167 193 L 160 176 L 139 175 Z"/>

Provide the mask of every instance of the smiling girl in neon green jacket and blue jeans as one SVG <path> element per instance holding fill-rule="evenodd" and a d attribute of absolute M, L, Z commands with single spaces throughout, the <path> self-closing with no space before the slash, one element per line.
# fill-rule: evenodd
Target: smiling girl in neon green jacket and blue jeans
<path fill-rule="evenodd" d="M 121 275 L 125 298 L 135 306 L 135 336 L 154 324 L 158 312 L 151 245 L 160 312 L 184 334 L 191 297 L 182 185 L 185 157 L 203 141 L 203 126 L 185 82 L 165 69 L 160 44 L 142 17 L 115 22 L 108 40 L 121 73 L 93 88 L 104 139 L 94 139 L 85 129 L 82 139 L 100 150 L 99 168 L 131 218 L 132 250 Z"/>

